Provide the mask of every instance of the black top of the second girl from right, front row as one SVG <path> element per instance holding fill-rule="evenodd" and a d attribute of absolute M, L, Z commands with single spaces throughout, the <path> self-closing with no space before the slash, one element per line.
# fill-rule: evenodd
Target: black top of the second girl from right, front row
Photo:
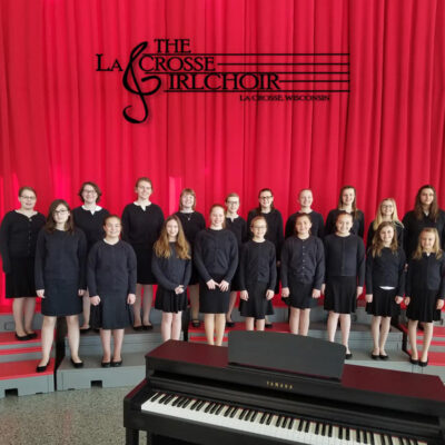
<path fill-rule="evenodd" d="M 373 257 L 368 249 L 366 258 L 366 294 L 373 294 L 374 288 L 387 286 L 395 287 L 396 295 L 405 294 L 405 251 L 402 247 L 393 253 L 384 247 L 380 256 Z"/>

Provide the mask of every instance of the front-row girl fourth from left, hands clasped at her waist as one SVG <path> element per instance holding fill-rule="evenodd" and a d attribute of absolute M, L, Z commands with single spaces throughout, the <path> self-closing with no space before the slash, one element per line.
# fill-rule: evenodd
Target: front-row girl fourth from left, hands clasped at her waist
<path fill-rule="evenodd" d="M 194 255 L 200 277 L 199 307 L 204 314 L 207 343 L 217 346 L 222 344 L 230 281 L 238 266 L 236 237 L 224 226 L 224 207 L 215 204 L 210 209 L 210 227 L 197 235 Z"/>

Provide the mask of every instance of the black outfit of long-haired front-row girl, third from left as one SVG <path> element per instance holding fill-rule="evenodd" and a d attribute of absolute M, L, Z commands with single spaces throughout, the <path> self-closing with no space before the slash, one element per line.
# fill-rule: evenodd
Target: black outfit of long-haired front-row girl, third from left
<path fill-rule="evenodd" d="M 191 260 L 178 258 L 175 243 L 170 243 L 170 257 L 158 257 L 154 253 L 151 269 L 158 280 L 155 308 L 176 314 L 187 309 L 187 286 L 191 275 Z M 175 293 L 179 285 L 184 286 L 182 294 Z"/>

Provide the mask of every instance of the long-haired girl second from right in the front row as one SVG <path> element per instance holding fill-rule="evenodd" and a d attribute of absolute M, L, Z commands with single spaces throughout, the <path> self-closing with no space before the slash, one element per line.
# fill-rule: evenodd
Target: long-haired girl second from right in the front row
<path fill-rule="evenodd" d="M 390 318 L 400 313 L 405 294 L 405 253 L 398 246 L 395 225 L 383 221 L 375 233 L 366 259 L 366 312 L 373 315 L 370 332 L 374 359 L 387 359 L 385 344 Z"/>

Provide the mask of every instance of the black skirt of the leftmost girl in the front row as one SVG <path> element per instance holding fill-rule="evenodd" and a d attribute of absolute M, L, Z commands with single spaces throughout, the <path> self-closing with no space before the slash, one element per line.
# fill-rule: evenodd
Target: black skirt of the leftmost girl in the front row
<path fill-rule="evenodd" d="M 78 315 L 82 312 L 82 297 L 79 297 L 77 280 L 52 279 L 44 284 L 41 313 L 50 317 Z"/>

